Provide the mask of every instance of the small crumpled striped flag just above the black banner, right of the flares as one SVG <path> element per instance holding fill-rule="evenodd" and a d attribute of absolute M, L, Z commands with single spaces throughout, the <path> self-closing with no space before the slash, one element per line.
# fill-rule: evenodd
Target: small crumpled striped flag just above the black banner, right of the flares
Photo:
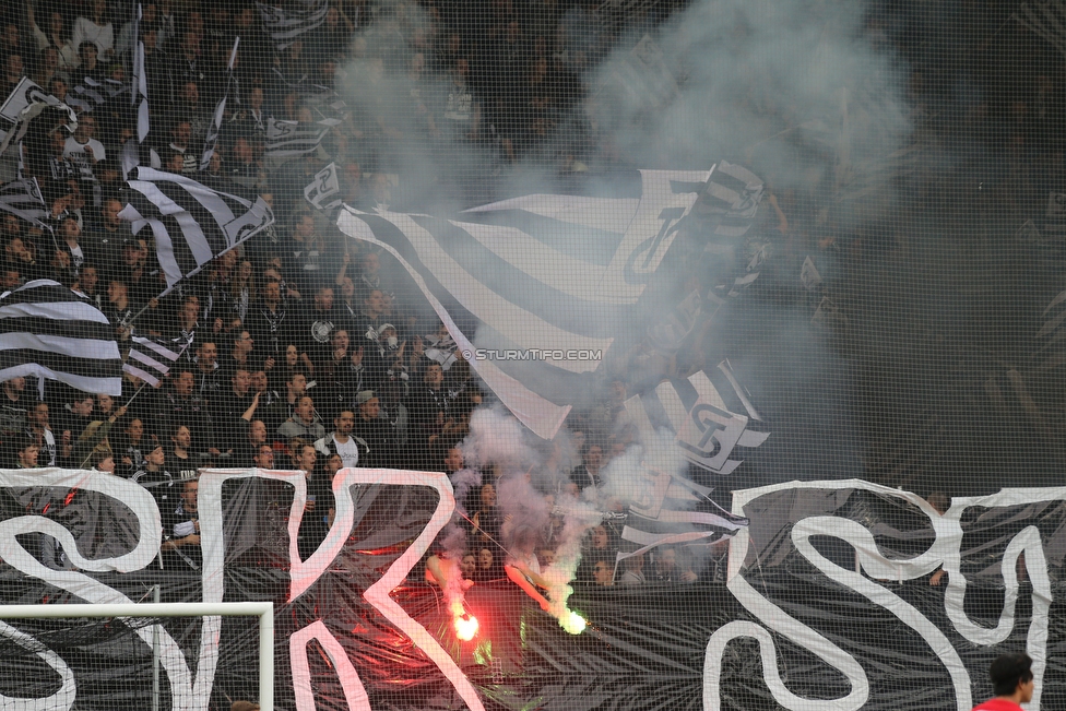
<path fill-rule="evenodd" d="M 711 489 L 683 476 L 644 469 L 643 481 L 629 505 L 621 540 L 636 550 L 617 560 L 665 545 L 712 545 L 748 525 L 713 500 Z"/>

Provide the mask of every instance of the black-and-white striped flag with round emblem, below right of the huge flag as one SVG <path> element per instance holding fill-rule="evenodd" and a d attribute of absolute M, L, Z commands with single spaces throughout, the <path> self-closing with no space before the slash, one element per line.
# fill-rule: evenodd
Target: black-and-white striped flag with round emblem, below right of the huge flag
<path fill-rule="evenodd" d="M 729 360 L 661 382 L 625 405 L 645 443 L 668 430 L 685 459 L 715 474 L 732 473 L 743 461 L 732 459 L 738 448 L 758 447 L 770 436 Z"/>

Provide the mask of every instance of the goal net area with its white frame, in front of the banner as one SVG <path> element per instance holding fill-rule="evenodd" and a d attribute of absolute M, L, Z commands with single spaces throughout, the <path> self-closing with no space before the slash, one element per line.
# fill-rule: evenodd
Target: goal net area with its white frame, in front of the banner
<path fill-rule="evenodd" d="M 272 710 L 273 629 L 271 603 L 0 605 L 0 704 Z"/>

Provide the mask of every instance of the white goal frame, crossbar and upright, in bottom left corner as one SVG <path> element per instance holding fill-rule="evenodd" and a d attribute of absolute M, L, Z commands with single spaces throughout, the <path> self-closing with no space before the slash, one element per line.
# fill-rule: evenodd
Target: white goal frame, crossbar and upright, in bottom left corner
<path fill-rule="evenodd" d="M 258 617 L 259 708 L 274 711 L 274 604 L 240 603 L 115 603 L 70 605 L 0 605 L 3 619 L 64 619 L 79 617 Z"/>

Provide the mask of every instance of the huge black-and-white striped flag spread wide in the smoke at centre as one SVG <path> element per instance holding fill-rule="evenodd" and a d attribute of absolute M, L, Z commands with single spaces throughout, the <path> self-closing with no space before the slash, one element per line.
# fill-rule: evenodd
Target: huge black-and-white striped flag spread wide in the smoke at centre
<path fill-rule="evenodd" d="M 345 208 L 336 224 L 403 264 L 471 367 L 550 439 L 594 391 L 707 177 L 641 170 L 614 186 L 619 197 L 525 195 L 461 221 Z"/>

